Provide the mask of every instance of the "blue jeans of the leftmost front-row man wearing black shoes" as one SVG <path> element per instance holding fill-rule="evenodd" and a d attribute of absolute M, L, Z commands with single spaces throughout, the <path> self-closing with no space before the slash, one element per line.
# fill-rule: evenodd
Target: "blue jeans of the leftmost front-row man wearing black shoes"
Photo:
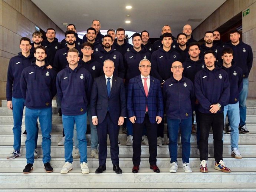
<path fill-rule="evenodd" d="M 26 107 L 25 124 L 27 130 L 26 159 L 34 163 L 35 138 L 37 135 L 36 122 L 39 118 L 42 132 L 43 163 L 51 160 L 52 107 L 45 109 L 29 109 Z"/>

